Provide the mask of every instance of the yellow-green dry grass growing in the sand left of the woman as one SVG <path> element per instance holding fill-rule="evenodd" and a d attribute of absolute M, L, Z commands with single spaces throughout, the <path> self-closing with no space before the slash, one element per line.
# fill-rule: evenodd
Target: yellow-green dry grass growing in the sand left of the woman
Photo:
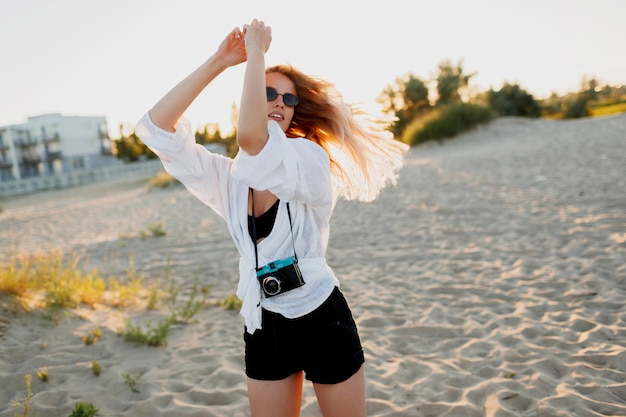
<path fill-rule="evenodd" d="M 79 256 L 64 256 L 61 252 L 15 256 L 10 262 L 0 264 L 0 296 L 13 299 L 14 303 L 9 306 L 14 311 L 46 309 L 44 317 L 54 323 L 64 309 L 79 306 L 94 308 L 101 304 L 125 308 L 145 303 L 148 310 L 154 310 L 161 301 L 167 302 L 169 315 L 156 325 L 141 326 L 129 319 L 119 329 L 118 334 L 124 341 L 148 346 L 166 346 L 171 325 L 189 324 L 202 308 L 211 305 L 207 300 L 210 289 L 200 286 L 198 280 L 191 292 L 180 298 L 180 290 L 173 281 L 168 290 L 161 289 L 157 281 L 146 288 L 132 257 L 126 276 L 121 278 L 104 279 L 97 269 L 83 272 L 80 261 Z M 221 304 L 225 309 L 241 308 L 234 296 Z M 82 339 L 86 345 L 91 345 L 101 335 L 96 327 Z M 94 368 L 94 372 L 99 370 Z"/>

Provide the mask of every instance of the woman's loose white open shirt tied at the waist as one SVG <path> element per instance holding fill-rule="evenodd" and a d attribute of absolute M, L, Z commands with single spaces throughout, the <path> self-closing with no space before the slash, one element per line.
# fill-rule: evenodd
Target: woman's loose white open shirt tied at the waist
<path fill-rule="evenodd" d="M 319 307 L 339 285 L 325 259 L 335 204 L 328 154 L 308 139 L 287 138 L 273 120 L 267 127 L 269 139 L 261 152 L 252 156 L 240 149 L 235 159 L 196 144 L 185 117 L 176 124 L 175 133 L 154 125 L 149 114 L 135 129 L 165 170 L 226 220 L 241 255 L 237 296 L 243 301 L 241 315 L 251 334 L 262 326 L 261 308 L 287 318 L 301 317 Z M 271 298 L 262 295 L 248 232 L 249 188 L 269 190 L 280 199 L 274 227 L 258 244 L 259 266 L 292 256 L 295 243 L 305 281 L 302 287 Z M 286 202 L 291 210 L 293 243 Z"/>

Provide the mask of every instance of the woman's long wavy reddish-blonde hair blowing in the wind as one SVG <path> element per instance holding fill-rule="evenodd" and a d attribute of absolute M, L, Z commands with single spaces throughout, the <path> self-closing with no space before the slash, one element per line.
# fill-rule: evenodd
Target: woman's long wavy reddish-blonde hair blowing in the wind
<path fill-rule="evenodd" d="M 386 130 L 388 121 L 347 105 L 334 84 L 290 65 L 265 72 L 283 74 L 294 83 L 300 103 L 285 133 L 324 148 L 338 197 L 372 201 L 386 185 L 396 184 L 408 146 Z"/>

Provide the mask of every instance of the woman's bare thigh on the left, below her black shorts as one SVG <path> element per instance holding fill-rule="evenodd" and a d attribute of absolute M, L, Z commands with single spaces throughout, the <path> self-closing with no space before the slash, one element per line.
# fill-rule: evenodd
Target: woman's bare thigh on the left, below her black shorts
<path fill-rule="evenodd" d="M 302 372 L 280 381 L 248 378 L 252 417 L 297 417 L 302 405 Z"/>

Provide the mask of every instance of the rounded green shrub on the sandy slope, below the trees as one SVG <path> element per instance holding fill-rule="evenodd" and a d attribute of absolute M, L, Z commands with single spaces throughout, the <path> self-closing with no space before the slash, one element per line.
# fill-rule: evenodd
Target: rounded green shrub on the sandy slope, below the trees
<path fill-rule="evenodd" d="M 414 146 L 429 140 L 451 138 L 489 122 L 494 117 L 495 113 L 488 107 L 455 103 L 413 121 L 404 132 L 402 140 Z"/>

